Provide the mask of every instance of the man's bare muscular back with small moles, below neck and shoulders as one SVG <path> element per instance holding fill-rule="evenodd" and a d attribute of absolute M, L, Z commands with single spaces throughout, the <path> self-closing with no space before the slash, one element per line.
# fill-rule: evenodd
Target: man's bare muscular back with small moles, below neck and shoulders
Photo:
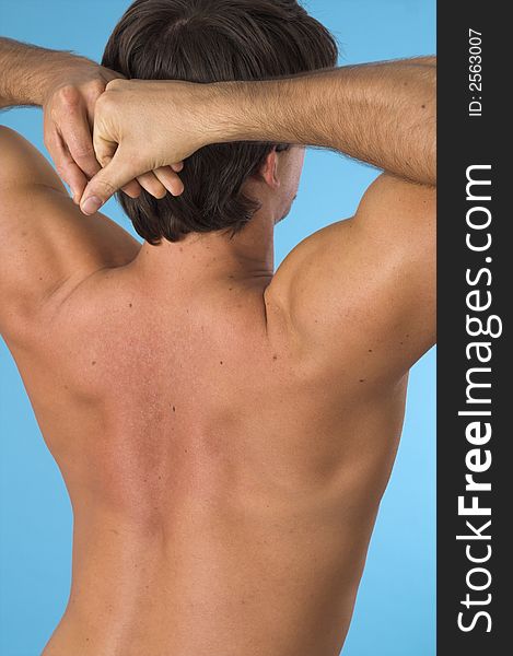
<path fill-rule="evenodd" d="M 266 323 L 267 280 L 198 282 L 100 272 L 18 358 L 74 514 L 45 655 L 341 648 L 406 383 L 334 378 Z"/>

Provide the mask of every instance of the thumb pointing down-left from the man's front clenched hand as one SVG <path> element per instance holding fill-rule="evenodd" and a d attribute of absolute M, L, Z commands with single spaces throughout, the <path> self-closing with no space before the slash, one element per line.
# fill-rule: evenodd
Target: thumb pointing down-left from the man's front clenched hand
<path fill-rule="evenodd" d="M 80 209 L 84 214 L 97 212 L 116 191 L 136 177 L 129 161 L 118 148 L 108 164 L 91 178 L 80 201 Z"/>

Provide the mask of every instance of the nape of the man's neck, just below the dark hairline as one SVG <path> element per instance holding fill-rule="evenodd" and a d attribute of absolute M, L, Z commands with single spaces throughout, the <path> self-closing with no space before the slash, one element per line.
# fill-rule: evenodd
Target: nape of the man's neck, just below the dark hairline
<path fill-rule="evenodd" d="M 147 274 L 163 282 L 269 279 L 275 267 L 273 232 L 272 216 L 259 211 L 233 237 L 211 232 L 191 233 L 177 243 L 163 239 L 158 246 L 144 242 L 137 260 Z"/>

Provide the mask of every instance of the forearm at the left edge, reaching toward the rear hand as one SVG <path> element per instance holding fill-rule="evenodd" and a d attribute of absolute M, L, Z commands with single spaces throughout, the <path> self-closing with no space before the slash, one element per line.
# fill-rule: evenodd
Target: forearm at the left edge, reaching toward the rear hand
<path fill-rule="evenodd" d="M 57 77 L 78 59 L 69 52 L 0 37 L 0 108 L 43 105 Z"/>

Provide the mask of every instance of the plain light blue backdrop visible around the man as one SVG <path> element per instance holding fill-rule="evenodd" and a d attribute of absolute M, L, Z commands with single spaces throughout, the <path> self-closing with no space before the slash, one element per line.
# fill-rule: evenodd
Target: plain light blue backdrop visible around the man
<path fill-rule="evenodd" d="M 98 60 L 128 4 L 128 0 L 0 0 L 0 33 Z M 340 63 L 435 50 L 434 0 L 304 4 L 337 36 Z M 0 122 L 44 151 L 39 110 L 14 109 L 2 114 Z M 315 230 L 350 216 L 376 175 L 334 153 L 310 151 L 294 210 L 277 229 L 277 263 Z M 105 211 L 130 230 L 115 201 Z M 343 656 L 435 654 L 434 376 L 431 351 L 411 374 L 403 442 Z M 67 604 L 72 517 L 59 470 L 1 341 L 0 456 L 0 654 L 35 656 Z"/>

